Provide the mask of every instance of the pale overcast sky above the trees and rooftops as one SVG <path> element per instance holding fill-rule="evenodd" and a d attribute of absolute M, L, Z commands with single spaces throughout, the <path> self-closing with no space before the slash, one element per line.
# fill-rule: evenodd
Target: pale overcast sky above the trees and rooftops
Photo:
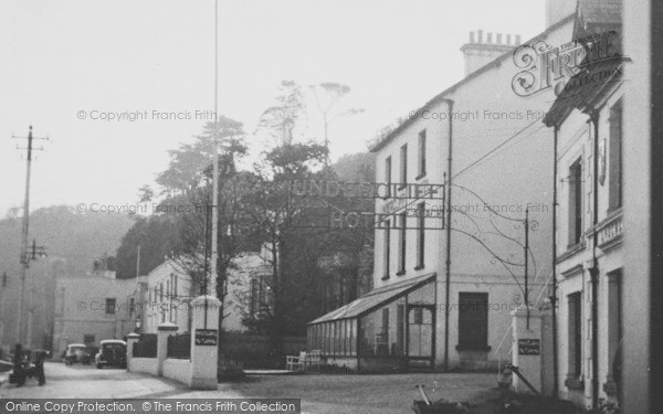
<path fill-rule="evenodd" d="M 460 81 L 470 31 L 526 40 L 545 29 L 545 0 L 219 0 L 218 10 L 218 112 L 244 124 L 254 156 L 283 79 L 307 93 L 351 87 L 339 110 L 364 113 L 330 125 L 337 159 Z M 214 108 L 213 0 L 0 0 L 0 217 L 23 202 L 25 140 L 12 136 L 30 125 L 50 137 L 35 141 L 31 210 L 135 205 Z M 322 141 L 315 108 L 306 120 L 305 138 Z"/>

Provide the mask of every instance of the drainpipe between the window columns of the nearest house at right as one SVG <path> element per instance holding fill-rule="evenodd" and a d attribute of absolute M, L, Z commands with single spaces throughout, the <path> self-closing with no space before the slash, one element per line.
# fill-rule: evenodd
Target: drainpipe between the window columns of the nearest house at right
<path fill-rule="evenodd" d="M 598 185 L 598 173 L 599 173 L 599 112 L 592 110 L 590 115 L 593 125 L 593 173 L 592 173 L 592 267 L 589 270 L 591 276 L 591 406 L 597 410 L 599 406 L 599 304 L 598 304 L 598 291 L 599 291 L 599 259 L 597 258 L 597 242 L 598 232 L 597 224 L 599 222 L 599 185 Z"/>

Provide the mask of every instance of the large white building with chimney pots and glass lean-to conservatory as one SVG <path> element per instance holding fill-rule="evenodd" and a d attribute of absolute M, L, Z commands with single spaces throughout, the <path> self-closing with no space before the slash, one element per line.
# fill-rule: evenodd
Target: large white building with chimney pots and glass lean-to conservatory
<path fill-rule="evenodd" d="M 518 81 L 540 41 L 570 39 L 575 1 L 551 15 L 560 8 L 523 45 L 471 34 L 467 76 L 372 147 L 377 181 L 393 184 L 376 201 L 376 289 L 311 322 L 309 348 L 328 361 L 391 371 L 511 360 L 512 311 L 526 298 L 544 306 L 552 280 L 554 141 L 541 119 L 555 92 Z"/>

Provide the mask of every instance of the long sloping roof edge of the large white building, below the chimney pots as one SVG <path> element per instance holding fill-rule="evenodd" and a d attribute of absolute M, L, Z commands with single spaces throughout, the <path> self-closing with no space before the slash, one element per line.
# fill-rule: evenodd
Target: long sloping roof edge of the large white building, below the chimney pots
<path fill-rule="evenodd" d="M 558 28 L 567 24 L 568 22 L 575 21 L 575 20 L 576 20 L 576 13 L 569 14 L 566 18 L 564 18 L 560 21 L 558 21 L 557 23 L 550 25 L 543 33 L 540 33 L 540 34 L 534 36 L 533 39 L 530 39 L 529 41 L 525 42 L 524 44 L 532 43 L 536 39 L 539 39 L 541 36 L 546 36 L 548 33 L 550 33 L 550 32 L 557 30 Z M 516 47 L 517 46 L 514 46 L 514 49 L 516 49 Z M 484 72 L 487 72 L 491 68 L 493 68 L 495 66 L 499 66 L 503 61 L 505 61 L 505 60 L 507 60 L 508 57 L 512 56 L 512 53 L 513 53 L 513 51 L 507 51 L 503 55 L 501 55 L 497 59 L 495 59 L 493 62 L 490 62 L 485 66 L 482 66 L 481 68 L 472 72 L 470 75 L 465 76 L 460 82 L 453 84 L 452 86 L 448 87 L 446 89 L 444 89 L 441 93 L 439 93 L 438 95 L 435 95 L 431 100 L 429 100 L 428 103 L 425 103 L 421 108 L 417 109 L 415 112 L 420 113 L 421 110 L 431 108 L 433 105 L 435 105 L 435 104 L 438 104 L 440 102 L 444 102 L 445 99 L 448 99 L 448 96 L 451 95 L 451 94 L 453 94 L 455 92 L 455 89 L 457 89 L 460 86 L 463 86 L 464 84 L 469 83 L 470 81 L 474 79 L 475 77 L 481 76 Z M 414 121 L 414 119 L 417 119 L 417 117 L 408 117 L 408 118 L 406 118 L 404 121 L 402 121 L 397 128 L 394 128 L 391 132 L 389 132 L 385 138 L 380 139 L 380 141 L 378 141 L 373 146 L 371 146 L 369 148 L 370 152 L 376 152 L 376 151 L 382 149 L 394 137 L 397 137 L 401 131 L 403 131 L 407 127 L 409 127 Z"/>

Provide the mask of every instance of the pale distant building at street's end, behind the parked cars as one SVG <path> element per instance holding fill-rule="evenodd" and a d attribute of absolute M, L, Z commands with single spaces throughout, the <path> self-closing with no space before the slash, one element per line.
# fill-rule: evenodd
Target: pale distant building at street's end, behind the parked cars
<path fill-rule="evenodd" d="M 98 346 L 123 339 L 136 329 L 136 283 L 116 279 L 114 272 L 63 276 L 55 282 L 53 355 L 67 343 Z"/>

